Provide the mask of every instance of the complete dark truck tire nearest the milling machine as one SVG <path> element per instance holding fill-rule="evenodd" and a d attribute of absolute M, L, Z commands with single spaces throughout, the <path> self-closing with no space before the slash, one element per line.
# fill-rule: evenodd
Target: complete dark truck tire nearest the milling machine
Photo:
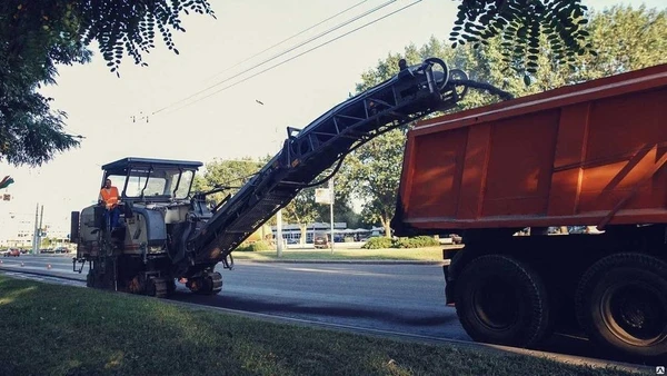
<path fill-rule="evenodd" d="M 550 329 L 541 278 L 511 257 L 471 260 L 456 280 L 455 299 L 459 320 L 476 342 L 530 347 Z"/>

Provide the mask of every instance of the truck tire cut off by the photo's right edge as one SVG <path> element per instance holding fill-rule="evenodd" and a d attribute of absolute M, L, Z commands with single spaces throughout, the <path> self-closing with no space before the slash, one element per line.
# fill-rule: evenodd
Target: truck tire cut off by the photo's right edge
<path fill-rule="evenodd" d="M 616 254 L 594 264 L 576 293 L 579 325 L 610 350 L 636 357 L 667 355 L 667 263 Z"/>

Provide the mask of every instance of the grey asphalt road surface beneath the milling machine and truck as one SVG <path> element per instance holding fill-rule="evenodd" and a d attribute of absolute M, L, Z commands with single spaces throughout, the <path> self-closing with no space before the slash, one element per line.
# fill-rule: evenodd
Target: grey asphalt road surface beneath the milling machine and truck
<path fill-rule="evenodd" d="M 0 267 L 84 281 L 88 267 L 81 274 L 73 273 L 71 257 L 2 257 Z M 47 268 L 49 264 L 50 269 Z M 223 278 L 219 295 L 192 295 L 183 285 L 177 284 L 172 299 L 429 338 L 470 340 L 456 310 L 445 305 L 442 268 L 437 265 L 237 261 L 233 270 L 220 267 L 219 271 Z M 613 359 L 585 339 L 559 335 L 540 349 Z"/>

